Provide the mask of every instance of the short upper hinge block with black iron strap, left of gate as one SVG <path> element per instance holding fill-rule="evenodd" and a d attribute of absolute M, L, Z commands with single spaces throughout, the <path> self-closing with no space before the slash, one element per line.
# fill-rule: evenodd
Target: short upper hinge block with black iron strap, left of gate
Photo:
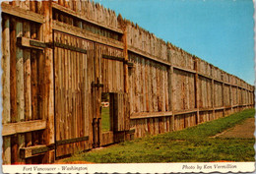
<path fill-rule="evenodd" d="M 39 49 L 39 50 L 43 50 L 45 47 L 48 47 L 48 44 L 42 41 L 34 40 L 27 37 L 18 37 L 17 44 L 20 46 L 24 46 L 32 49 Z"/>

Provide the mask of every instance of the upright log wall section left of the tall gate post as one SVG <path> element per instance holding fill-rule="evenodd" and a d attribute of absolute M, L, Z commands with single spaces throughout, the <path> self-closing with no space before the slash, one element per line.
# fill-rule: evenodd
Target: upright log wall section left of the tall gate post
<path fill-rule="evenodd" d="M 36 10 L 32 8 L 36 7 Z M 24 36 L 28 39 L 40 40 L 38 37 L 39 27 L 44 23 L 44 18 L 41 15 L 41 2 L 30 6 L 30 2 L 16 1 L 2 3 L 2 17 L 3 17 L 3 124 L 7 125 L 6 135 L 4 136 L 3 154 L 4 163 L 32 163 L 31 159 L 24 159 L 20 155 L 20 149 L 26 146 L 35 144 L 43 144 L 39 139 L 45 125 L 32 125 L 32 120 L 41 120 L 42 109 L 40 102 L 36 105 L 35 113 L 32 113 L 32 77 L 37 76 L 36 68 L 32 72 L 32 55 L 31 49 L 27 49 L 17 44 L 17 39 Z M 33 16 L 32 16 L 33 15 Z M 16 17 L 18 16 L 18 18 Z M 41 52 L 35 51 L 38 60 Z M 41 65 L 41 64 L 39 64 Z M 37 83 L 36 83 L 37 84 Z M 40 91 L 39 88 L 37 90 Z M 38 92 L 40 93 L 40 92 Z M 35 97 L 40 97 L 37 95 Z M 9 106 L 8 106 L 9 105 Z M 45 122 L 45 121 L 44 121 Z M 15 125 L 27 125 L 26 129 L 19 129 L 18 132 L 10 133 L 10 129 Z M 33 128 L 32 128 L 33 126 Z M 32 129 L 30 129 L 32 128 Z M 33 130 L 33 131 L 32 131 Z M 36 135 L 40 135 L 39 137 Z M 34 162 L 37 160 L 35 159 Z"/>

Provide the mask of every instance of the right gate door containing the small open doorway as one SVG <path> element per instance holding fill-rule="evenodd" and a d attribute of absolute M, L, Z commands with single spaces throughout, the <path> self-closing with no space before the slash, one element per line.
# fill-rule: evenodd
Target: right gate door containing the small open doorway
<path fill-rule="evenodd" d="M 99 68 L 101 75 L 101 137 L 100 145 L 119 142 L 124 134 L 124 56 L 123 50 L 107 45 L 97 44 L 101 57 Z M 106 96 L 108 94 L 108 99 Z M 104 103 L 107 102 L 107 106 Z M 103 108 L 105 107 L 105 108 Z M 106 112 L 108 108 L 108 119 Z M 107 131 L 104 129 L 109 122 Z M 104 125 L 104 127 L 102 126 Z"/>

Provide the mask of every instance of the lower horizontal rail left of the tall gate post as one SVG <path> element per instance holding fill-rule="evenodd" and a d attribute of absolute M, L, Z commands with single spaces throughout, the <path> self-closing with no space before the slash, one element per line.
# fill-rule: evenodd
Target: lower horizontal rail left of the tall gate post
<path fill-rule="evenodd" d="M 32 131 L 43 130 L 46 128 L 45 120 L 33 120 L 19 123 L 9 123 L 3 125 L 2 136 L 11 136 L 14 134 L 28 133 Z"/>

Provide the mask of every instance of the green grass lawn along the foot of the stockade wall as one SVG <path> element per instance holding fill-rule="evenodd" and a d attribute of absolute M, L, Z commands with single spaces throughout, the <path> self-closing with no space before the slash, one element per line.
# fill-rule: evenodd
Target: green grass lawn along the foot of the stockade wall
<path fill-rule="evenodd" d="M 74 154 L 65 161 L 96 163 L 254 161 L 254 139 L 211 138 L 254 117 L 254 109 L 178 132 Z"/>

